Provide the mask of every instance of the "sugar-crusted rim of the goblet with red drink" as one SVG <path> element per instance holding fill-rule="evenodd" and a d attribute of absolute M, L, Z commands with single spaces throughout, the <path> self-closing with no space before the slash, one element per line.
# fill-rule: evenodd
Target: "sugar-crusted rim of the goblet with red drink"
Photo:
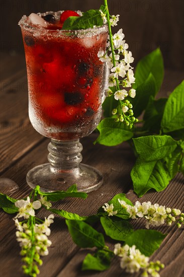
<path fill-rule="evenodd" d="M 64 11 L 58 11 L 58 12 L 46 12 L 46 13 L 37 13 L 37 15 L 39 16 L 45 16 L 47 14 L 52 14 L 56 17 L 56 19 L 58 19 L 58 17 L 60 17 L 60 15 L 63 13 Z M 76 13 L 78 13 L 79 15 L 81 15 L 80 11 L 76 11 Z M 21 18 L 21 20 L 19 21 L 19 25 L 21 27 L 24 27 L 27 31 L 30 32 L 36 32 L 39 33 L 41 35 L 49 35 L 49 34 L 54 34 L 54 35 L 58 35 L 58 36 L 82 36 L 84 35 L 85 37 L 87 36 L 87 34 L 93 33 L 93 35 L 97 35 L 100 34 L 102 32 L 107 32 L 108 31 L 108 26 L 107 25 L 102 25 L 99 27 L 94 27 L 94 28 L 88 28 L 88 29 L 81 29 L 81 30 L 51 30 L 51 29 L 46 29 L 43 26 L 39 25 L 39 27 L 30 25 L 28 22 L 26 22 L 28 19 L 28 16 L 23 16 Z M 90 35 L 91 36 L 91 35 Z"/>

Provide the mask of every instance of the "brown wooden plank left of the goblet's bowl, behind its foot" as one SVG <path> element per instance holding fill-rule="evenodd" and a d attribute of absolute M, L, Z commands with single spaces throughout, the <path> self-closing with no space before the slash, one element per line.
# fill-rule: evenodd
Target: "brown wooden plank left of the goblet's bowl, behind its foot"
<path fill-rule="evenodd" d="M 1 83 L 0 172 L 5 171 L 12 163 L 44 140 L 29 120 L 25 70 L 19 72 L 17 76 L 18 79 L 12 76 Z"/>

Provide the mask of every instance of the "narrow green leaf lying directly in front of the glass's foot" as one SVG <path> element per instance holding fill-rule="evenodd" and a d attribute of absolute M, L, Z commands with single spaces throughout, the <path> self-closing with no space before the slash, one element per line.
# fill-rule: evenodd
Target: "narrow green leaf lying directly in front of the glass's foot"
<path fill-rule="evenodd" d="M 47 196 L 48 201 L 58 201 L 66 197 L 79 197 L 83 199 L 87 197 L 87 193 L 76 191 L 76 185 L 69 187 L 67 191 L 42 192 L 39 188 L 37 191 L 40 195 Z"/>

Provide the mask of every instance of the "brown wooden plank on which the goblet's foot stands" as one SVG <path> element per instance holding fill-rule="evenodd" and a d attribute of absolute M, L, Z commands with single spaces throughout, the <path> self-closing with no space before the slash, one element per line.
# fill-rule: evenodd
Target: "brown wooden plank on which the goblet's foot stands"
<path fill-rule="evenodd" d="M 126 193 L 129 190 L 131 184 L 129 171 L 134 162 L 133 152 L 127 144 L 108 148 L 108 151 L 106 147 L 100 145 L 94 146 L 93 141 L 95 141 L 96 136 L 97 134 L 91 134 L 81 140 L 83 143 L 83 163 L 95 166 L 103 171 L 105 175 L 104 185 L 99 190 L 89 193 L 86 200 L 71 198 L 60 201 L 56 205 L 58 209 L 84 216 L 91 215 L 96 213 L 98 207 L 112 198 L 114 194 L 119 192 Z M 3 177 L 12 178 L 20 186 L 20 190 L 14 193 L 12 197 L 22 198 L 28 195 L 30 189 L 26 185 L 26 173 L 34 165 L 46 162 L 48 142 L 49 140 L 43 142 L 3 174 Z M 122 170 L 126 161 L 129 161 L 128 167 Z M 45 211 L 44 213 L 41 212 L 40 216 L 45 217 L 48 214 Z M 1 212 L 1 218 L 1 244 L 3 249 L 1 252 L 0 273 L 10 276 L 14 272 L 14 276 L 21 276 L 20 248 L 15 238 L 13 216 Z M 68 234 L 64 220 L 56 216 L 55 223 L 51 229 L 52 232 L 49 238 L 52 241 L 52 247 L 50 248 L 49 255 L 43 259 L 44 265 L 41 267 L 40 276 L 55 276 L 78 250 L 78 247 L 73 243 Z"/>

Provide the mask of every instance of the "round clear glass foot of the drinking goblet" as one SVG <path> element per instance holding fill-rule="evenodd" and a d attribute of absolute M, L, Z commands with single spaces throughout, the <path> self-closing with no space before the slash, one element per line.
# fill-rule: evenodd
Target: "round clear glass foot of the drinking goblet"
<path fill-rule="evenodd" d="M 35 188 L 37 185 L 43 192 L 67 190 L 76 184 L 78 191 L 90 192 L 98 189 L 103 183 L 103 175 L 94 167 L 79 164 L 73 169 L 52 172 L 50 164 L 43 164 L 31 169 L 27 174 L 27 183 Z"/>

